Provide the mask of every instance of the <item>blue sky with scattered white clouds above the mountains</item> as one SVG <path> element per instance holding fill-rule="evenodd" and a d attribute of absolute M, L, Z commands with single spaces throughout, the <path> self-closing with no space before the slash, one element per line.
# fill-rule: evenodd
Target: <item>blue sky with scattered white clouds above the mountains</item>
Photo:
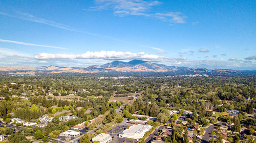
<path fill-rule="evenodd" d="M 256 1 L 0 1 L 0 66 L 256 70 Z"/>

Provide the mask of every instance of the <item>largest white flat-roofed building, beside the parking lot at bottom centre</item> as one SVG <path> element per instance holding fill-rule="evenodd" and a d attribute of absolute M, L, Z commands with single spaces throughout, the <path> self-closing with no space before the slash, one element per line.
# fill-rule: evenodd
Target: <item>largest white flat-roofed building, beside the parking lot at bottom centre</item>
<path fill-rule="evenodd" d="M 126 130 L 119 133 L 119 137 L 140 139 L 147 131 L 151 130 L 152 127 L 153 126 L 151 125 L 133 125 L 131 127 L 127 127 Z"/>

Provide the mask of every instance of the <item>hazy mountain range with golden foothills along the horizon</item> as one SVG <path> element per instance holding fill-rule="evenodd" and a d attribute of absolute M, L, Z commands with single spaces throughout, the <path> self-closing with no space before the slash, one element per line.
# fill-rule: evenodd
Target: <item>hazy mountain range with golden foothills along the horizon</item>
<path fill-rule="evenodd" d="M 142 60 L 132 60 L 130 62 L 114 61 L 101 66 L 81 67 L 0 67 L 0 72 L 9 74 L 35 74 L 35 73 L 99 73 L 99 72 L 176 72 L 183 74 L 198 73 L 234 73 L 236 70 L 229 69 L 194 69 L 187 67 L 166 66 Z"/>

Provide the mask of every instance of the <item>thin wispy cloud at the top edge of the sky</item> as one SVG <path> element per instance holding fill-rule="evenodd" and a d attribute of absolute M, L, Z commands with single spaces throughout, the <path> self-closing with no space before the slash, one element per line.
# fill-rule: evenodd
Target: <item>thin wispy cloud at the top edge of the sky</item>
<path fill-rule="evenodd" d="M 91 10 L 113 10 L 116 16 L 137 15 L 145 17 L 155 17 L 170 23 L 185 23 L 185 18 L 180 12 L 150 13 L 153 6 L 162 4 L 159 1 L 143 0 L 95 0 L 95 7 Z"/>

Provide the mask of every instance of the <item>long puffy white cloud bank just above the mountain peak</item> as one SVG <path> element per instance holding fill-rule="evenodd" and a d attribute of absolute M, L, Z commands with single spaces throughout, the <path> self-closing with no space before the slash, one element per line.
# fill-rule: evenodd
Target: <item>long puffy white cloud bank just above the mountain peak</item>
<path fill-rule="evenodd" d="M 121 51 L 87 51 L 83 54 L 51 54 L 39 53 L 35 55 L 36 59 L 105 59 L 105 60 L 131 60 L 131 59 L 158 59 L 163 58 L 155 54 L 148 54 L 145 52 L 132 53 Z"/>

